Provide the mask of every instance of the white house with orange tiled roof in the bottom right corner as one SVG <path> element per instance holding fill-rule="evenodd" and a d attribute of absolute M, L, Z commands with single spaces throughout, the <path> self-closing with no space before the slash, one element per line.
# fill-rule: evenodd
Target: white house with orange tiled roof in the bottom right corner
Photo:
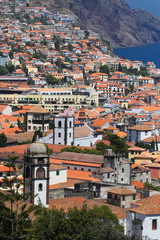
<path fill-rule="evenodd" d="M 131 204 L 126 213 L 126 234 L 134 239 L 160 240 L 160 195 Z"/>

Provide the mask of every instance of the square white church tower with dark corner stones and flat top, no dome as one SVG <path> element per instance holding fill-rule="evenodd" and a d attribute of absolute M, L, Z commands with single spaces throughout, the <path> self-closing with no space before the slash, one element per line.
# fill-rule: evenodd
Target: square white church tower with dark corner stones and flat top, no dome
<path fill-rule="evenodd" d="M 55 116 L 53 144 L 74 145 L 74 117 Z"/>

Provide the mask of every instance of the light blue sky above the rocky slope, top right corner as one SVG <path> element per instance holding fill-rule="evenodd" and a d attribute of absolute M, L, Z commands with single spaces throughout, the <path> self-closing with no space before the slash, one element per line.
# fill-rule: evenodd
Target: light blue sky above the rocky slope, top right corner
<path fill-rule="evenodd" d="M 160 0 L 126 0 L 131 8 L 145 9 L 160 17 Z"/>

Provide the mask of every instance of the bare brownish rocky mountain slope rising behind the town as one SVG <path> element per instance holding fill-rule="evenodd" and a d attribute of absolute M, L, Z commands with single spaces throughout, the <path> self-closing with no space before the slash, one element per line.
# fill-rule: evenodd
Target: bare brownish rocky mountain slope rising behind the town
<path fill-rule="evenodd" d="M 100 33 L 112 47 L 160 42 L 160 18 L 130 9 L 125 0 L 33 0 L 31 4 L 74 14 L 81 27 Z"/>

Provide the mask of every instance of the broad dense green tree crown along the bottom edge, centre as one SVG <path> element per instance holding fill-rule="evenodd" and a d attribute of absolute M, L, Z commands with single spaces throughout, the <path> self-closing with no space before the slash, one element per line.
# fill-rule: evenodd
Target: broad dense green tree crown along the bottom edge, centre
<path fill-rule="evenodd" d="M 34 226 L 37 240 L 127 239 L 123 234 L 123 227 L 108 206 L 94 206 L 89 209 L 84 204 L 82 209 L 74 207 L 68 213 L 63 209 L 42 209 Z"/>

